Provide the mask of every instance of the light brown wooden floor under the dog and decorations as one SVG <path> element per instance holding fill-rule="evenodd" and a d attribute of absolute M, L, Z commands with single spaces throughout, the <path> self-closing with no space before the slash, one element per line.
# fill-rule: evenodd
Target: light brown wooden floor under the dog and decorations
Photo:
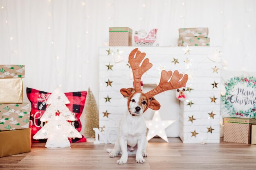
<path fill-rule="evenodd" d="M 34 144 L 31 152 L 0 158 L 0 170 L 254 170 L 256 145 L 183 144 L 179 138 L 169 143 L 154 138 L 148 144 L 146 163 L 136 163 L 135 155 L 124 165 L 110 158 L 111 144 L 77 143 L 69 149 L 48 150 Z"/>

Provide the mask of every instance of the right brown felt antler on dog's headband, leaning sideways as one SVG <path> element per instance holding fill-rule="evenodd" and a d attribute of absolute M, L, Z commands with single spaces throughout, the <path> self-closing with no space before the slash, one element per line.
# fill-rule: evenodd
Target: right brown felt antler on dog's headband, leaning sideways
<path fill-rule="evenodd" d="M 182 78 L 183 77 L 183 78 Z M 171 78 L 170 82 L 168 80 Z M 188 75 L 180 74 L 179 71 L 175 70 L 174 73 L 172 71 L 165 71 L 163 70 L 161 73 L 161 78 L 158 86 L 154 88 L 153 90 L 149 91 L 145 95 L 148 98 L 151 98 L 159 93 L 162 93 L 164 91 L 177 89 L 183 87 L 186 82 L 188 81 Z"/>

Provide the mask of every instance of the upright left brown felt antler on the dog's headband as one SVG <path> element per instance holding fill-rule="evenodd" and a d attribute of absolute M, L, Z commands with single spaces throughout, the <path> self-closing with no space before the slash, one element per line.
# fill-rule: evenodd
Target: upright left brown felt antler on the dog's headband
<path fill-rule="evenodd" d="M 134 57 L 135 53 L 136 53 L 136 56 Z M 141 53 L 140 51 L 138 51 L 138 49 L 132 50 L 132 52 L 129 55 L 129 63 L 132 68 L 135 92 L 141 91 L 141 88 L 140 88 L 141 76 L 153 66 L 149 62 L 148 58 L 146 58 L 142 62 L 145 56 L 146 56 L 146 53 Z M 139 66 L 140 64 L 141 66 Z"/>

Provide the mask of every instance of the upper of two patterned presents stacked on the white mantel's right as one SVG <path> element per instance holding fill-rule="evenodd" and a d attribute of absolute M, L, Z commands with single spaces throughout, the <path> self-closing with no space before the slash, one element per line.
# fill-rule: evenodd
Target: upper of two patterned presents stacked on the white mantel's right
<path fill-rule="evenodd" d="M 208 28 L 182 28 L 179 37 L 208 37 Z"/>

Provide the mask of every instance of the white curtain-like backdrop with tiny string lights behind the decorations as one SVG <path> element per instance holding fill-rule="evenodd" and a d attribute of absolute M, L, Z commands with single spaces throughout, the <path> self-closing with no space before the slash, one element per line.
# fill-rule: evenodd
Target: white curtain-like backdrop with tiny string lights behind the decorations
<path fill-rule="evenodd" d="M 98 47 L 113 26 L 157 28 L 160 46 L 176 46 L 178 28 L 209 27 L 227 70 L 255 71 L 255 0 L 0 0 L 0 64 L 24 64 L 24 87 L 90 86 L 97 98 Z"/>

